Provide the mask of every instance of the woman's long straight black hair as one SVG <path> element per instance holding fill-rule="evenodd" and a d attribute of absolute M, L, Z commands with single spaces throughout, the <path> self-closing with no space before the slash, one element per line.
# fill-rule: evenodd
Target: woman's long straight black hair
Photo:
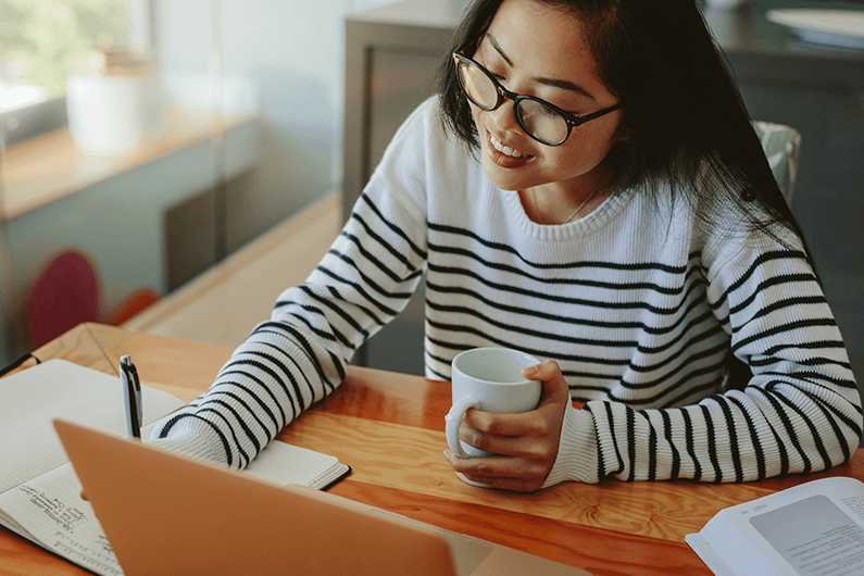
<path fill-rule="evenodd" d="M 472 148 L 479 146 L 476 127 L 450 54 L 474 54 L 501 1 L 471 7 L 439 70 L 442 120 Z M 718 199 L 738 206 L 754 229 L 777 238 L 772 230 L 779 224 L 804 242 L 694 0 L 533 1 L 586 24 L 600 77 L 621 99 L 630 140 L 606 158 L 614 189 L 656 192 L 669 186 L 676 201 Z M 693 183 L 703 186 L 694 189 Z M 712 220 L 710 211 L 698 213 Z"/>

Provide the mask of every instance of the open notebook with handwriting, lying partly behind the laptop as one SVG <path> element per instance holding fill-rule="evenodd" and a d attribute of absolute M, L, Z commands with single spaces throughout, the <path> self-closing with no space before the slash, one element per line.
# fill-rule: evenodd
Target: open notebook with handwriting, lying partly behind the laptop
<path fill-rule="evenodd" d="M 142 437 L 186 405 L 142 386 Z M 0 378 L 0 525 L 97 574 L 121 574 L 52 421 L 64 418 L 121 437 L 126 431 L 120 378 L 64 360 Z M 325 488 L 350 472 L 335 456 L 271 442 L 243 474 L 276 484 Z"/>

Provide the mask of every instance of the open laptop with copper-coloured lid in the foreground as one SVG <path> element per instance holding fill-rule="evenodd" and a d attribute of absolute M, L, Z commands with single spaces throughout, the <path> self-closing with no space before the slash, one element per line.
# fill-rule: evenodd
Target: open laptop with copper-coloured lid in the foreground
<path fill-rule="evenodd" d="M 335 494 L 54 427 L 126 576 L 588 575 Z"/>

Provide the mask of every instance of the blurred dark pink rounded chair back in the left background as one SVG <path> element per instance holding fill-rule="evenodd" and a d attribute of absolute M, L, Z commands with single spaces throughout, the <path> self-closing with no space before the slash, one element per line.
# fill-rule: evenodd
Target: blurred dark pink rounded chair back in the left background
<path fill-rule="evenodd" d="M 99 279 L 89 260 L 76 251 L 52 260 L 30 289 L 27 314 L 34 348 L 82 322 L 98 322 Z"/>

